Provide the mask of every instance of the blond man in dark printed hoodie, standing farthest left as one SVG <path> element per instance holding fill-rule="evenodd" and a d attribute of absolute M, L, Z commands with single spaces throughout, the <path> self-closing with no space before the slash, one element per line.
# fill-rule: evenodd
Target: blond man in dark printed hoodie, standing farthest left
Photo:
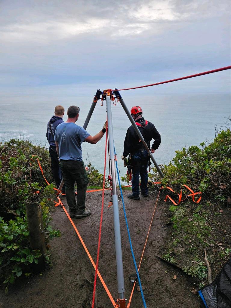
<path fill-rule="evenodd" d="M 59 159 L 55 148 L 54 136 L 56 127 L 64 122 L 63 115 L 64 115 L 64 108 L 63 106 L 58 105 L 55 107 L 55 115 L 53 115 L 50 121 L 47 123 L 47 140 L 50 145 L 49 153 L 51 156 L 51 169 L 57 188 L 59 188 L 59 184 L 63 178 L 63 175 L 59 168 Z M 62 191 L 63 193 L 65 193 L 65 185 L 63 185 Z"/>

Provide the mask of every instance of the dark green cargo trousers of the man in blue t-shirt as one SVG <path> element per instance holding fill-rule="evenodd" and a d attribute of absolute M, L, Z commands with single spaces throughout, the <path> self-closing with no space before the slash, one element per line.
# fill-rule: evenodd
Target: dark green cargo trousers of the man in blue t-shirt
<path fill-rule="evenodd" d="M 82 161 L 62 160 L 60 167 L 66 185 L 66 198 L 71 213 L 82 214 L 85 211 L 86 191 L 88 184 L 87 172 Z M 77 185 L 77 202 L 75 201 L 75 182 Z"/>

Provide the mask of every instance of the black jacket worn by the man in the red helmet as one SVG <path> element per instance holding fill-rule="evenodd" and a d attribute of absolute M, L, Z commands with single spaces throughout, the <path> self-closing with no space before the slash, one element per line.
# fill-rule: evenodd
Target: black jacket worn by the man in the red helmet
<path fill-rule="evenodd" d="M 145 121 L 144 118 L 140 118 L 136 120 L 136 122 L 140 123 L 140 120 Z M 144 137 L 144 130 L 142 127 L 137 126 Z M 145 141 L 152 141 L 154 139 L 155 141 L 152 144 L 152 149 L 156 150 L 159 148 L 160 145 L 160 134 L 155 128 L 155 126 L 148 122 L 148 125 L 144 128 L 145 129 Z M 127 134 L 124 140 L 124 153 L 123 155 L 126 157 L 129 153 L 135 153 L 136 151 L 139 151 L 143 146 L 143 143 L 140 141 L 140 138 L 138 137 L 135 128 L 131 125 L 128 130 Z"/>

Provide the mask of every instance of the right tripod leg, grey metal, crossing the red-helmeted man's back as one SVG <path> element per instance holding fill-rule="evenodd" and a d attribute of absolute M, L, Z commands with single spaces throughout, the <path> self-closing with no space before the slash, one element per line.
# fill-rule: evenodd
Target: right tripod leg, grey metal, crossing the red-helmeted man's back
<path fill-rule="evenodd" d="M 121 104 L 121 106 L 124 108 L 124 111 L 125 111 L 126 115 L 128 116 L 128 119 L 129 119 L 130 122 L 132 123 L 132 126 L 134 127 L 134 129 L 135 129 L 137 135 L 139 136 L 140 140 L 143 142 L 144 147 L 145 147 L 146 150 L 148 151 L 148 155 L 150 156 L 150 158 L 151 158 L 153 164 L 155 165 L 157 171 L 159 172 L 160 176 L 161 176 L 162 178 L 164 178 L 164 174 L 163 174 L 162 171 L 160 170 L 160 167 L 159 167 L 159 165 L 157 164 L 155 158 L 153 157 L 152 152 L 150 151 L 150 149 L 148 148 L 146 142 L 144 141 L 144 137 L 142 136 L 142 134 L 141 134 L 139 128 L 137 127 L 137 125 L 136 125 L 134 119 L 132 118 L 132 115 L 130 114 L 130 112 L 129 112 L 129 110 L 128 110 L 128 107 L 125 105 L 124 100 L 122 99 L 122 96 L 120 95 L 120 92 L 119 92 L 117 89 L 114 89 L 113 92 L 115 93 L 116 97 L 119 97 L 119 99 L 120 99 L 120 104 Z"/>

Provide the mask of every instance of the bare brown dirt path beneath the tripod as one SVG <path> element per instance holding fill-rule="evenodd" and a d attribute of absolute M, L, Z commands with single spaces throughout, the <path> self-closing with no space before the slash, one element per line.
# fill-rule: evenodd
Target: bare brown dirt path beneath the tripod
<path fill-rule="evenodd" d="M 124 191 L 125 207 L 132 238 L 136 262 L 139 264 L 144 242 L 152 218 L 156 196 L 141 197 L 140 201 L 128 199 Z M 118 193 L 119 194 L 119 193 Z M 88 193 L 86 208 L 91 209 L 91 216 L 73 221 L 79 230 L 88 250 L 96 261 L 99 220 L 102 192 Z M 107 208 L 111 200 L 110 192 L 105 191 L 102 238 L 99 258 L 99 272 L 107 284 L 114 299 L 117 298 L 115 243 L 113 227 L 113 208 Z M 64 202 L 64 204 L 66 204 Z M 129 275 L 135 273 L 132 261 L 127 229 L 124 220 L 121 198 L 120 228 L 123 251 L 125 298 L 132 290 Z M 68 206 L 66 205 L 68 209 Z M 167 207 L 163 196 L 158 201 L 148 243 L 140 268 L 140 278 L 144 287 L 144 298 L 148 308 L 200 308 L 201 300 L 193 294 L 192 279 L 182 271 L 161 261 L 155 254 L 163 248 L 166 240 L 168 220 Z M 10 286 L 8 295 L 0 290 L 1 308 L 90 308 L 93 286 L 85 279 L 94 281 L 95 270 L 87 257 L 77 234 L 63 209 L 55 208 L 52 213 L 53 225 L 61 231 L 61 237 L 51 241 L 49 254 L 52 255 L 52 267 L 41 275 L 17 279 Z M 177 279 L 172 279 L 176 275 Z M 113 307 L 101 282 L 97 279 L 97 308 Z M 131 308 L 143 307 L 141 294 L 134 291 Z"/>

